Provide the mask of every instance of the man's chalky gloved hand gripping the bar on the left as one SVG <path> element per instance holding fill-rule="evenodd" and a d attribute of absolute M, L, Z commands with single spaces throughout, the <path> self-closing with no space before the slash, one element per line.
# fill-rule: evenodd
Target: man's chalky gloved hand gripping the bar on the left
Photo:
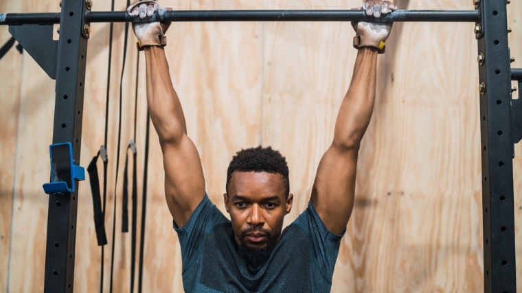
<path fill-rule="evenodd" d="M 158 5 L 156 1 L 139 1 L 127 8 L 128 14 L 139 19 L 146 19 L 158 10 L 172 10 Z M 134 34 L 139 40 L 140 47 L 145 46 L 164 46 L 161 37 L 165 35 L 170 26 L 170 22 L 159 23 L 133 23 Z"/>

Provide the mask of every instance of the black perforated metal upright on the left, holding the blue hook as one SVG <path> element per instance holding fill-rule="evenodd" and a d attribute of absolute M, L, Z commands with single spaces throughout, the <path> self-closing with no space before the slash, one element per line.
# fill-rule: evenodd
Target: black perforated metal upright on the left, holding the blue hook
<path fill-rule="evenodd" d="M 63 0 L 56 65 L 53 143 L 73 145 L 73 164 L 80 165 L 87 38 L 82 36 L 84 1 Z M 49 195 L 45 293 L 73 292 L 78 180 L 72 193 Z"/>

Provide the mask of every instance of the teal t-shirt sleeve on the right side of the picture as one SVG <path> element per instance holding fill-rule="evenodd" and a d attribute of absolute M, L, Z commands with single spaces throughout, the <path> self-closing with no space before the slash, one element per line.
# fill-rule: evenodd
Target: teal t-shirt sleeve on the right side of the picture
<path fill-rule="evenodd" d="M 328 231 L 323 220 L 317 215 L 317 211 L 315 211 L 311 200 L 308 202 L 308 208 L 295 219 L 293 224 L 302 228 L 308 236 L 308 243 L 310 244 L 313 259 L 317 263 L 317 266 L 319 266 L 319 270 L 321 270 L 321 272 L 325 274 L 325 277 L 331 282 L 335 261 L 337 261 L 337 255 L 339 254 L 341 238 L 346 230 L 342 235 Z"/>

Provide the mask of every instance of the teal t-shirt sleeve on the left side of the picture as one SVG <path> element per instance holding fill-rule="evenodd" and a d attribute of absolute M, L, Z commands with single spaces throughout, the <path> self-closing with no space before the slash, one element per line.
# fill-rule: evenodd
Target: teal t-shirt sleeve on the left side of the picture
<path fill-rule="evenodd" d="M 198 250 L 205 242 L 205 237 L 212 228 L 228 221 L 225 215 L 210 201 L 207 194 L 198 204 L 194 213 L 190 215 L 185 226 L 178 228 L 176 222 L 172 221 L 174 231 L 178 233 L 183 268 L 187 268 L 196 257 Z"/>

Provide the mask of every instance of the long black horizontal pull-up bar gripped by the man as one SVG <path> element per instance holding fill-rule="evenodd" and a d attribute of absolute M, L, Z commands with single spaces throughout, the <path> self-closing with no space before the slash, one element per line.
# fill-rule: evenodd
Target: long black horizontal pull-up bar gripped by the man
<path fill-rule="evenodd" d="M 0 25 L 23 23 L 58 23 L 56 13 L 0 14 Z M 3 19 L 3 20 L 2 20 Z M 87 12 L 87 22 L 136 21 L 124 11 Z M 161 11 L 149 21 L 422 21 L 422 22 L 477 22 L 475 10 L 396 10 L 376 19 L 361 10 L 185 10 Z"/>

